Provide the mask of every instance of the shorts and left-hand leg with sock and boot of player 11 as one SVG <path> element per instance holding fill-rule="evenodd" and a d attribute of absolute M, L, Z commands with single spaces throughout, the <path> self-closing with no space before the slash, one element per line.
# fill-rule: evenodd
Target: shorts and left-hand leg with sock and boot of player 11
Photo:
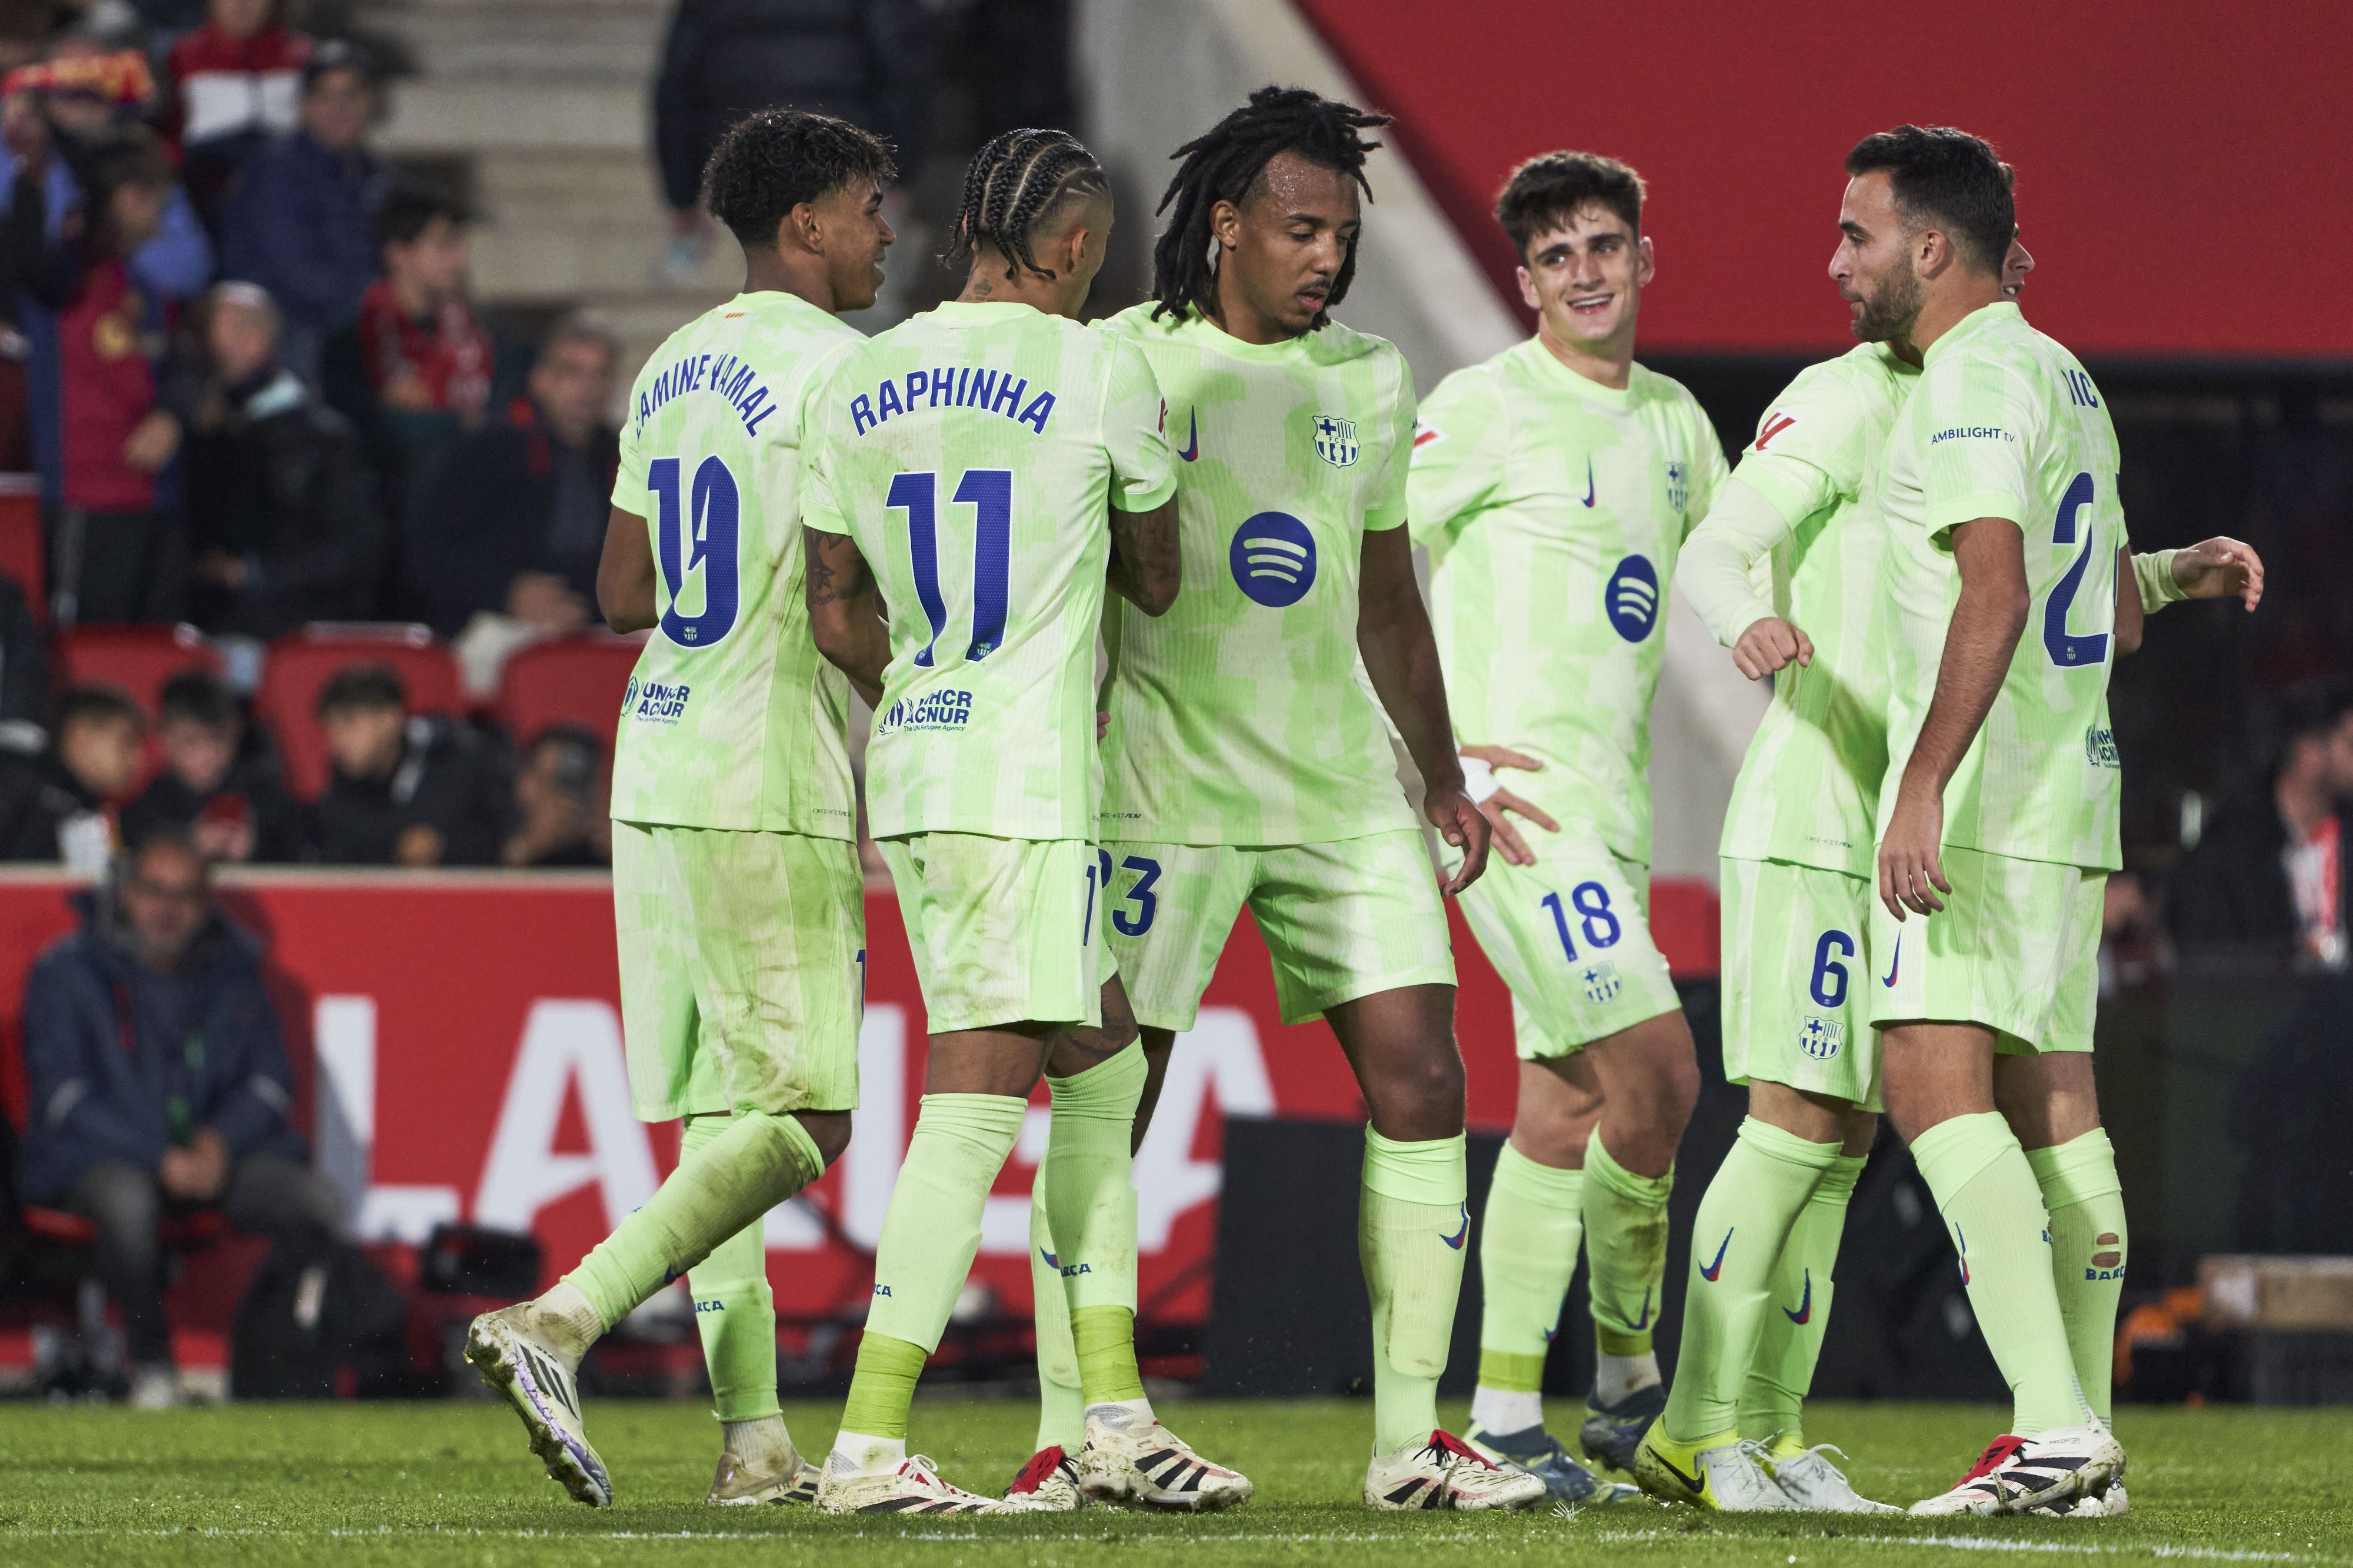
<path fill-rule="evenodd" d="M 929 1065 L 816 1502 L 840 1514 L 991 1512 L 1005 1505 L 908 1460 L 908 1408 L 979 1255 L 988 1187 L 1021 1133 L 1049 1041 L 1073 1023 L 1104 1023 L 1087 922 L 1094 863 L 1073 842 L 939 832 L 889 839 L 882 858 L 922 983 Z"/>

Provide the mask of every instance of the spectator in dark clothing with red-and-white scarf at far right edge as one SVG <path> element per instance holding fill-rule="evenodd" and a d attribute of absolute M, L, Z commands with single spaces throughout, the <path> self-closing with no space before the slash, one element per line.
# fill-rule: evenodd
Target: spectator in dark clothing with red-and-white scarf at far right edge
<path fill-rule="evenodd" d="M 2280 755 L 2261 790 L 2226 799 L 2174 879 L 2186 959 L 2266 957 L 2344 971 L 2353 846 L 2353 682 L 2287 693 Z"/>

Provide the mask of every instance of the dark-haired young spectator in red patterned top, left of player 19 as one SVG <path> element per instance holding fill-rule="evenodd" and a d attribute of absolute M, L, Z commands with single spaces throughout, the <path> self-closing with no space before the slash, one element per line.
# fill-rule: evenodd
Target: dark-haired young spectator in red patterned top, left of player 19
<path fill-rule="evenodd" d="M 499 353 L 466 299 L 464 207 L 395 190 L 376 212 L 376 244 L 384 277 L 327 341 L 320 383 L 374 451 L 398 534 L 424 480 L 482 423 Z"/>

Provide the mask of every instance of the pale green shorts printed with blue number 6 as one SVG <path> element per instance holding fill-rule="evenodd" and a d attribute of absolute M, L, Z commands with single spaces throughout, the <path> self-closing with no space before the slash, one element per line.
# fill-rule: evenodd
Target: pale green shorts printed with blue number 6
<path fill-rule="evenodd" d="M 1880 1037 L 1864 997 L 1875 893 L 1788 860 L 1720 860 L 1725 1077 L 1880 1107 Z"/>

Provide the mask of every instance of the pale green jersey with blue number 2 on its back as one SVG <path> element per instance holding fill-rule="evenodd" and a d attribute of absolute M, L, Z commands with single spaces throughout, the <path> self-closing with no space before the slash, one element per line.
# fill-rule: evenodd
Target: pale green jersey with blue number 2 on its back
<path fill-rule="evenodd" d="M 2115 425 L 2092 376 L 2002 301 L 1927 350 L 1887 442 L 1887 595 L 1894 686 L 1880 827 L 1937 691 L 1960 599 L 1951 529 L 2007 517 L 2026 536 L 2026 632 L 1944 790 L 1944 842 L 2021 860 L 2115 870 L 2118 771 L 2108 729 L 2115 656 Z"/>

